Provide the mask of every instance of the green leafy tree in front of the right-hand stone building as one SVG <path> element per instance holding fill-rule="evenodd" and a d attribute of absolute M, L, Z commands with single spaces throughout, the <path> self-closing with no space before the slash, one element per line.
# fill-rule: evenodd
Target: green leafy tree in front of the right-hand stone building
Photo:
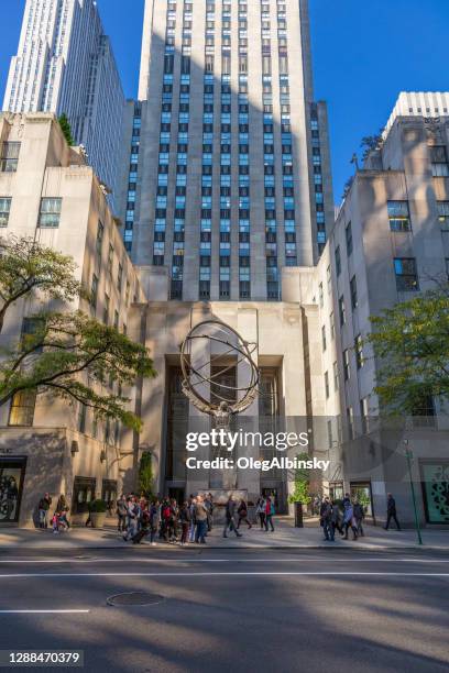
<path fill-rule="evenodd" d="M 371 318 L 366 341 L 380 358 L 375 393 L 387 413 L 419 415 L 429 397 L 449 397 L 449 287 Z"/>

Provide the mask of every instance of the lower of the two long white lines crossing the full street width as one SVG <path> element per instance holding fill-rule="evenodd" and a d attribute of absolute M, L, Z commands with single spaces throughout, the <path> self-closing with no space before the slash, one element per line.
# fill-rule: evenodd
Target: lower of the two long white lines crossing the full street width
<path fill-rule="evenodd" d="M 258 571 L 258 572 L 199 572 L 199 573 L 11 573 L 0 580 L 23 580 L 26 577 L 266 577 L 266 576 L 326 576 L 326 577 L 449 577 L 449 573 L 396 573 L 362 571 Z"/>

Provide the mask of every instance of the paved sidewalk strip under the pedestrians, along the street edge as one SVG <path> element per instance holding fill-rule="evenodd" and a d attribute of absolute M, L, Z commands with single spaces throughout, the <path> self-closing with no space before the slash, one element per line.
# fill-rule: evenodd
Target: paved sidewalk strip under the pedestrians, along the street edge
<path fill-rule="evenodd" d="M 365 537 L 359 538 L 357 541 L 341 540 L 340 534 L 337 533 L 335 542 L 326 542 L 322 539 L 322 530 L 316 520 L 307 521 L 305 528 L 294 528 L 291 518 L 280 517 L 275 519 L 275 527 L 274 532 L 265 532 L 254 526 L 251 530 L 248 530 L 244 526 L 241 530 L 241 538 L 229 533 L 227 539 L 222 537 L 221 527 L 216 527 L 207 538 L 207 549 L 362 549 L 365 551 L 431 549 L 449 552 L 449 529 L 424 529 L 421 532 L 424 545 L 421 548 L 417 543 L 414 530 L 396 531 L 392 529 L 385 531 L 381 527 L 366 526 Z M 150 544 L 143 541 L 140 547 L 150 547 Z M 0 554 L 1 551 L 10 551 L 11 549 L 43 552 L 62 549 L 124 548 L 135 549 L 130 542 L 124 542 L 112 526 L 102 529 L 74 528 L 69 532 L 57 536 L 53 534 L 51 530 L 0 529 Z M 180 548 L 176 544 L 157 543 L 155 549 L 172 549 L 183 553 L 184 550 L 191 551 L 198 548 L 197 544 Z M 150 547 L 150 549 L 153 548 Z M 206 549 L 206 545 L 201 545 L 201 549 Z"/>

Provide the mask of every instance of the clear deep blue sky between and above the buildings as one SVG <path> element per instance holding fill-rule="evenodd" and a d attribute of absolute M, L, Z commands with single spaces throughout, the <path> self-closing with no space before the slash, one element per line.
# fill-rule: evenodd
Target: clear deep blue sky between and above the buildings
<path fill-rule="evenodd" d="M 255 1 L 255 0 L 250 0 Z M 316 98 L 329 106 L 336 202 L 363 135 L 387 120 L 401 90 L 449 89 L 449 0 L 309 0 Z M 128 97 L 138 89 L 144 0 L 98 0 Z M 2 0 L 0 91 L 24 0 Z M 6 30 L 7 29 L 7 30 Z"/>

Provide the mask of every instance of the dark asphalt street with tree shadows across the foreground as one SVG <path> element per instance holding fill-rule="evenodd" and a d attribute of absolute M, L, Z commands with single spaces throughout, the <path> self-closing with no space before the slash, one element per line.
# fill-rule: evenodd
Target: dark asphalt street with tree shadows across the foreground
<path fill-rule="evenodd" d="M 107 603 L 135 592 L 156 603 Z M 84 650 L 89 672 L 437 673 L 448 633 L 446 553 L 0 554 L 0 649 Z"/>

